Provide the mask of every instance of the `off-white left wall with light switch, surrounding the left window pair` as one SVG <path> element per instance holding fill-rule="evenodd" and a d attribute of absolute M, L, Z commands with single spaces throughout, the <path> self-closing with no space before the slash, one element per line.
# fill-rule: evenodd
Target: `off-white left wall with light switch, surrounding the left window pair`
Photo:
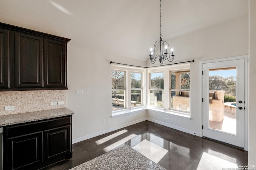
<path fill-rule="evenodd" d="M 113 130 L 112 128 L 145 120 L 146 111 L 123 117 L 111 117 L 110 61 L 145 65 L 143 61 L 113 56 L 106 51 L 76 47 L 72 45 L 72 41 L 68 43 L 67 107 L 75 113 L 72 125 L 74 142 L 106 133 Z M 76 89 L 83 89 L 84 94 L 76 95 Z M 103 118 L 105 123 L 102 123 Z"/>

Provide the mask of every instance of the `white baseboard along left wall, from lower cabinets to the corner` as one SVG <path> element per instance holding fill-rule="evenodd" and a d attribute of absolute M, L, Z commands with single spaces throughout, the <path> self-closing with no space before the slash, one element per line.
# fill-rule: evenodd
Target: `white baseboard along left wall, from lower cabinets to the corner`
<path fill-rule="evenodd" d="M 140 123 L 140 122 L 146 121 L 146 120 L 147 120 L 147 118 L 139 119 L 139 120 L 136 120 L 136 121 L 132 121 L 130 123 L 126 123 L 124 125 L 119 125 L 119 126 L 116 126 L 116 127 L 112 127 L 110 129 L 106 129 L 104 131 L 99 131 L 99 132 L 96 132 L 96 133 L 93 133 L 93 134 L 90 134 L 90 135 L 79 137 L 79 138 L 73 139 L 72 143 L 73 144 L 78 143 L 78 142 L 84 141 L 86 139 L 90 139 L 90 138 L 93 138 L 93 137 L 96 137 L 96 136 L 99 136 L 99 135 L 103 135 L 105 133 L 109 133 L 109 132 L 112 132 L 112 131 L 115 131 L 115 130 L 118 130 L 118 129 L 121 129 L 121 128 L 124 128 L 124 127 L 127 127 L 127 126 L 130 126 L 130 125 L 134 125 L 136 123 Z"/>

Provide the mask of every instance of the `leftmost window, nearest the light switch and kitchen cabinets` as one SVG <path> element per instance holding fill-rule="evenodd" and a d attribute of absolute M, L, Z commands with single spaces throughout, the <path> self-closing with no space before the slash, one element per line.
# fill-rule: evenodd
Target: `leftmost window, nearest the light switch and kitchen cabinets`
<path fill-rule="evenodd" d="M 112 110 L 126 107 L 125 71 L 112 70 Z"/>

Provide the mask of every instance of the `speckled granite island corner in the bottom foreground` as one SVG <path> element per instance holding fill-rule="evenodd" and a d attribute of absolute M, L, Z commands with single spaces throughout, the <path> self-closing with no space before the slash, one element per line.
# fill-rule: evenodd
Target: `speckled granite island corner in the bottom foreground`
<path fill-rule="evenodd" d="M 111 150 L 71 170 L 166 170 L 128 145 Z"/>

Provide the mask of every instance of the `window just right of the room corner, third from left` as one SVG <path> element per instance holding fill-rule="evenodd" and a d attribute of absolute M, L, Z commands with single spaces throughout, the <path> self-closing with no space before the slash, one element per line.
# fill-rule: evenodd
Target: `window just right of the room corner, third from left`
<path fill-rule="evenodd" d="M 164 72 L 150 73 L 150 106 L 164 107 Z"/>

